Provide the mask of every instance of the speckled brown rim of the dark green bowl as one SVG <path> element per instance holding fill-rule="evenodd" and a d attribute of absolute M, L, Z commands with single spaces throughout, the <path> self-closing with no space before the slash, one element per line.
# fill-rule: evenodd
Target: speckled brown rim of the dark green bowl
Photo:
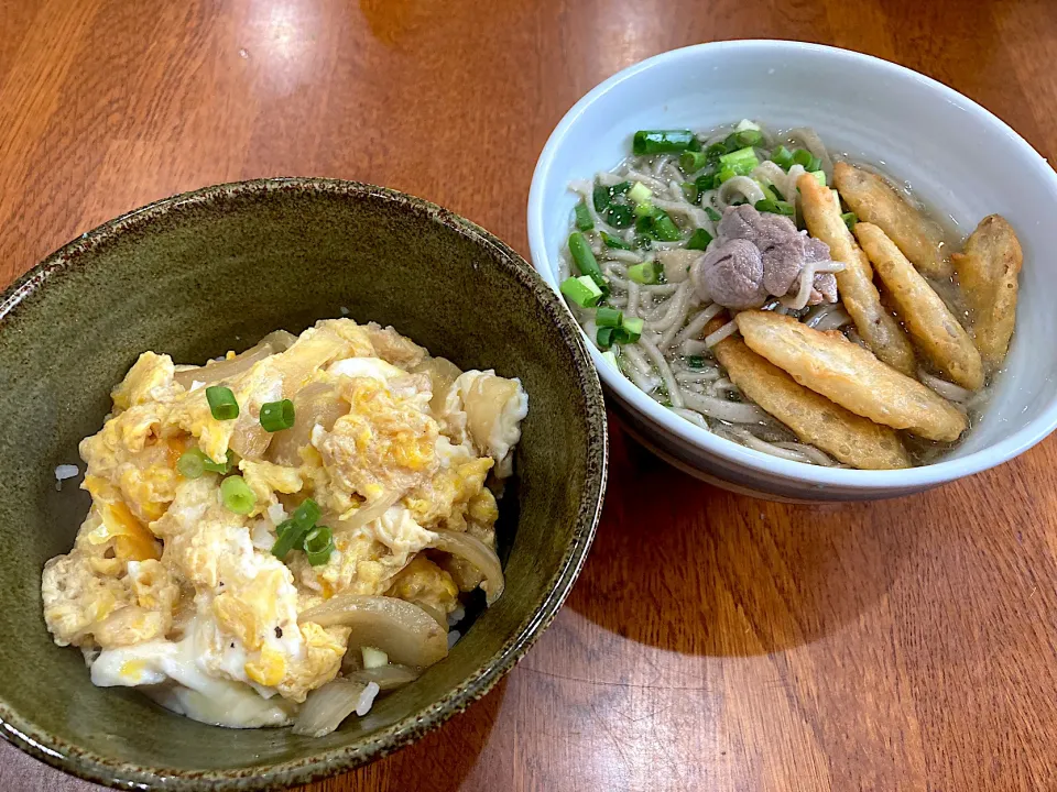
<path fill-rule="evenodd" d="M 555 340 L 563 340 L 573 353 L 577 363 L 576 384 L 587 403 L 585 416 L 589 438 L 586 449 L 587 474 L 571 541 L 565 550 L 558 571 L 545 586 L 547 594 L 498 652 L 443 698 L 417 715 L 408 716 L 374 733 L 357 746 L 264 768 L 232 768 L 201 772 L 175 771 L 171 768 L 116 762 L 105 756 L 81 750 L 35 728 L 26 718 L 14 712 L 6 701 L 0 700 L 0 737 L 30 756 L 87 781 L 129 790 L 279 790 L 337 776 L 386 756 L 438 727 L 453 715 L 465 711 L 488 693 L 514 667 L 557 615 L 584 565 L 595 537 L 595 527 L 601 514 L 602 498 L 606 493 L 609 439 L 601 385 L 580 338 L 579 328 L 551 287 L 514 250 L 476 223 L 422 198 L 386 187 L 325 178 L 268 178 L 237 182 L 164 198 L 81 234 L 18 278 L 0 295 L 0 342 L 2 342 L 6 327 L 15 316 L 19 306 L 44 288 L 50 280 L 62 277 L 67 270 L 78 266 L 78 260 L 83 254 L 126 232 L 146 229 L 153 220 L 171 212 L 201 207 L 224 198 L 291 190 L 399 204 L 404 210 L 425 220 L 440 223 L 483 248 L 499 266 L 506 270 L 521 286 L 533 294 L 540 309 L 555 327 Z"/>

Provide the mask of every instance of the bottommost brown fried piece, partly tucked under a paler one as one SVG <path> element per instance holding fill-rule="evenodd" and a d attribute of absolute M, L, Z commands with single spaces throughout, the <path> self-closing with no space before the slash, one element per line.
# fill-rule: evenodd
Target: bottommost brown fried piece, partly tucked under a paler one
<path fill-rule="evenodd" d="M 718 330 L 726 321 L 724 318 L 712 319 L 706 334 Z M 798 385 L 784 371 L 749 349 L 740 338 L 726 338 L 712 351 L 727 369 L 731 382 L 804 442 L 860 470 L 911 466 L 903 443 L 889 427 L 860 418 Z"/>

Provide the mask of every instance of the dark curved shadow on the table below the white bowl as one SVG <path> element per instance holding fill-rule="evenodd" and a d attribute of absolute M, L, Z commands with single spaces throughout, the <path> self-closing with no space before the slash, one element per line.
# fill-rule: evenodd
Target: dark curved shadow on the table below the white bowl
<path fill-rule="evenodd" d="M 914 552 L 876 504 L 729 493 L 612 420 L 610 449 L 609 497 L 568 607 L 640 644 L 701 656 L 808 644 L 873 607 Z"/>

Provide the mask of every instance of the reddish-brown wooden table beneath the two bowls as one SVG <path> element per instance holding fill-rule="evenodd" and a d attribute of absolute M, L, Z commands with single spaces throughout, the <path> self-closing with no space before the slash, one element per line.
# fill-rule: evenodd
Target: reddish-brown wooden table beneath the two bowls
<path fill-rule="evenodd" d="M 533 165 L 579 96 L 749 36 L 902 63 L 1057 154 L 1046 0 L 0 0 L 0 285 L 128 209 L 274 175 L 407 190 L 527 254 Z M 532 653 L 313 792 L 1057 789 L 1057 442 L 806 507 L 612 439 L 590 561 Z M 4 746 L 0 789 L 89 784 Z"/>

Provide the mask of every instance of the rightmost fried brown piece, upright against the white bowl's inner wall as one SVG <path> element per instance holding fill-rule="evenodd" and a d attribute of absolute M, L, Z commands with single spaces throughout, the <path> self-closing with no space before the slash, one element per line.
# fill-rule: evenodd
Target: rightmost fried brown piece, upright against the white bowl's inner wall
<path fill-rule="evenodd" d="M 951 256 L 972 311 L 972 334 L 988 371 L 1002 365 L 1016 322 L 1017 276 L 1024 264 L 1021 243 L 1001 215 L 980 221 L 963 253 Z"/>

